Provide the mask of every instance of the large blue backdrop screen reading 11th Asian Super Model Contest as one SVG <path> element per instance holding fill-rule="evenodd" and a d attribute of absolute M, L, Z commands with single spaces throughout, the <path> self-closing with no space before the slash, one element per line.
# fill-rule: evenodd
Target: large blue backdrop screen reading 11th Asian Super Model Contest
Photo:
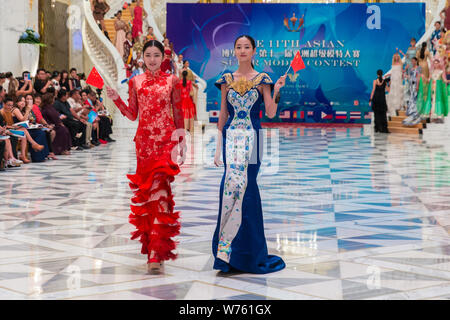
<path fill-rule="evenodd" d="M 207 110 L 217 121 L 214 82 L 235 71 L 233 44 L 257 42 L 255 68 L 276 81 L 297 50 L 306 69 L 281 91 L 279 112 L 264 122 L 368 123 L 372 81 L 425 32 L 425 4 L 167 4 L 167 36 L 207 82 Z"/>

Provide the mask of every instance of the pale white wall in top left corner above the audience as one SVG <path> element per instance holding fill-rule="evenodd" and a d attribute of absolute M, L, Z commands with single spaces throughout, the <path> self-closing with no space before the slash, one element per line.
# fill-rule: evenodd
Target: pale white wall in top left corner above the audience
<path fill-rule="evenodd" d="M 39 32 L 38 0 L 1 0 L 0 3 L 0 72 L 11 71 L 19 76 L 24 70 L 17 41 L 28 27 Z"/>

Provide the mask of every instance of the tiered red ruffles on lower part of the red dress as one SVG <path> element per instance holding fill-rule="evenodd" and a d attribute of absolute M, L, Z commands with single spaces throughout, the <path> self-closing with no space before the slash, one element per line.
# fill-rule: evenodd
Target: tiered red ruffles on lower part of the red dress
<path fill-rule="evenodd" d="M 141 253 L 148 254 L 149 259 L 151 252 L 154 252 L 160 261 L 176 258 L 172 251 L 177 242 L 172 237 L 180 233 L 180 212 L 173 211 L 175 202 L 170 183 L 179 172 L 177 164 L 160 160 L 143 169 L 138 168 L 136 174 L 127 175 L 134 193 L 129 222 L 137 229 L 131 233 L 131 239 L 139 238 L 142 243 Z M 152 189 L 155 182 L 156 188 Z M 161 190 L 165 190 L 167 196 L 152 199 L 152 195 Z M 161 202 L 167 203 L 167 210 Z"/>

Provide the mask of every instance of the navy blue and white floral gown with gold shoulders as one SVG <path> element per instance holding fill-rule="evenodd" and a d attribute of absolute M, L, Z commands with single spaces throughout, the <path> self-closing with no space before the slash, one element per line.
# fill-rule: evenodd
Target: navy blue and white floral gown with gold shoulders
<path fill-rule="evenodd" d="M 257 88 L 262 84 L 273 87 L 273 82 L 266 73 L 251 80 L 235 80 L 227 72 L 215 84 L 219 89 L 227 84 L 229 118 L 222 130 L 225 172 L 212 241 L 214 269 L 259 274 L 279 271 L 285 263 L 280 257 L 268 255 L 256 182 L 263 147 L 259 132 L 263 96 Z"/>

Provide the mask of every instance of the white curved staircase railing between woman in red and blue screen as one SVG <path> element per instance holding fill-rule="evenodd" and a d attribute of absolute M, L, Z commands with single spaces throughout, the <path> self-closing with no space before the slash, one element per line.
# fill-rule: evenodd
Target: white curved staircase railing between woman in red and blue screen
<path fill-rule="evenodd" d="M 159 41 L 163 41 L 163 35 L 159 30 L 159 27 L 156 23 L 155 17 L 152 14 L 152 1 L 160 1 L 160 0 L 144 0 L 143 6 L 145 11 L 147 12 L 147 24 L 150 27 L 153 27 L 153 33 Z M 175 56 L 175 62 L 178 62 L 178 56 Z M 206 81 L 200 78 L 195 72 L 194 76 L 198 85 L 198 93 L 197 93 L 197 119 L 203 122 L 209 122 L 209 113 L 206 111 Z"/>

